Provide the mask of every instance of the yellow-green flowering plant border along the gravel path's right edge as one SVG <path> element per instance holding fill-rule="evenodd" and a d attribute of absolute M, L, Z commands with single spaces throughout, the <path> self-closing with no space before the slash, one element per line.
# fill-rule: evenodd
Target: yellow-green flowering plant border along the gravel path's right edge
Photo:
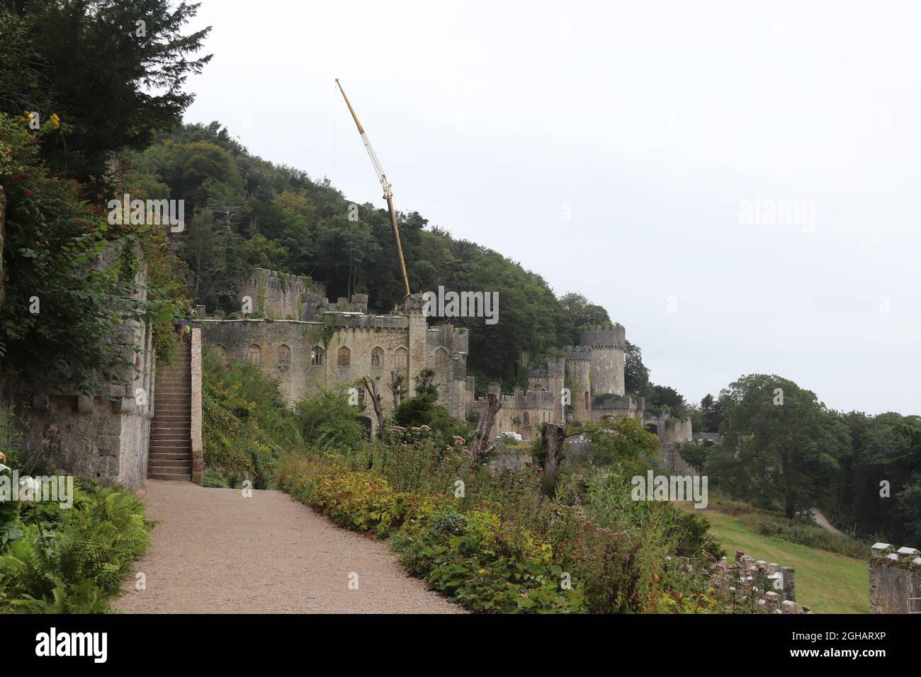
<path fill-rule="evenodd" d="M 412 575 L 474 611 L 723 608 L 707 589 L 721 550 L 704 519 L 631 501 L 618 473 L 569 475 L 550 501 L 536 474 L 491 473 L 468 459 L 426 429 L 391 428 L 386 444 L 286 457 L 278 485 L 345 527 L 390 538 Z"/>

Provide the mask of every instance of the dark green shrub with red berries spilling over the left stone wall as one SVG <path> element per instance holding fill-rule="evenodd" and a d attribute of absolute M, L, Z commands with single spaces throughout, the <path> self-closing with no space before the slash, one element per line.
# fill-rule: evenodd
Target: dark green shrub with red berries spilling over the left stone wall
<path fill-rule="evenodd" d="M 32 383 L 99 390 L 120 369 L 134 367 L 126 321 L 169 322 L 164 286 L 135 280 L 145 252 L 163 285 L 162 232 L 113 228 L 77 186 L 52 176 L 37 155 L 38 134 L 23 119 L 0 114 L 0 202 L 6 201 L 0 356 L 6 370 Z M 158 249 L 159 248 L 159 249 Z M 145 293 L 146 292 L 146 293 Z M 143 299 L 143 300 L 142 300 Z M 36 311 L 32 311 L 36 310 Z"/>

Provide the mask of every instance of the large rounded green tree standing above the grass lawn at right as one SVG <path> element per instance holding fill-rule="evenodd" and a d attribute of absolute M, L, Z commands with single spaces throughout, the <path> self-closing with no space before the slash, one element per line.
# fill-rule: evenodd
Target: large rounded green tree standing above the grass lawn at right
<path fill-rule="evenodd" d="M 720 403 L 721 461 L 737 468 L 720 485 L 756 503 L 778 504 L 791 519 L 810 508 L 848 451 L 846 426 L 815 393 L 778 376 L 743 376 L 720 392 Z"/>

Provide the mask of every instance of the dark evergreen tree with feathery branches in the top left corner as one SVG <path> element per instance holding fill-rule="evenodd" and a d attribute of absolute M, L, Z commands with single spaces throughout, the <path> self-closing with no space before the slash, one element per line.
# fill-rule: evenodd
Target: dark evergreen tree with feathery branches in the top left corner
<path fill-rule="evenodd" d="M 169 0 L 6 0 L 0 8 L 0 112 L 52 113 L 71 134 L 47 134 L 52 170 L 105 193 L 116 149 L 147 146 L 181 123 L 182 85 L 211 55 L 193 58 L 210 28 L 183 34 L 198 5 Z M 142 22 L 142 23 L 138 23 Z M 6 56 L 10 59 L 7 60 Z"/>

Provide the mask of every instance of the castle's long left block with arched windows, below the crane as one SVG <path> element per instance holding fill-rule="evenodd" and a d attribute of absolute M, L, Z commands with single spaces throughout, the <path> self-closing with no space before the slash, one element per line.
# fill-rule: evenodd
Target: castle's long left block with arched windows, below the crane
<path fill-rule="evenodd" d="M 278 279 L 271 271 L 261 271 L 262 280 Z M 251 276 L 249 280 L 257 279 Z M 244 291 L 251 292 L 244 286 Z M 228 355 L 257 363 L 262 371 L 278 381 L 286 402 L 316 394 L 336 384 L 354 387 L 359 402 L 367 403 L 364 377 L 376 380 L 385 414 L 393 410 L 388 388 L 391 373 L 401 373 L 404 388 L 412 393 L 414 377 L 423 368 L 435 370 L 438 402 L 452 415 L 463 417 L 473 400 L 473 379 L 467 377 L 468 334 L 450 325 L 428 327 L 422 298 L 406 299 L 402 312 L 387 315 L 367 314 L 367 296 L 356 294 L 331 306 L 325 298 L 301 288 L 316 289 L 311 283 L 274 288 L 268 294 L 266 309 L 281 314 L 297 308 L 298 316 L 276 320 L 254 313 L 239 318 L 203 318 L 203 340 L 220 345 Z M 365 311 L 363 311 L 363 309 Z M 201 313 L 200 313 L 201 315 Z"/>

